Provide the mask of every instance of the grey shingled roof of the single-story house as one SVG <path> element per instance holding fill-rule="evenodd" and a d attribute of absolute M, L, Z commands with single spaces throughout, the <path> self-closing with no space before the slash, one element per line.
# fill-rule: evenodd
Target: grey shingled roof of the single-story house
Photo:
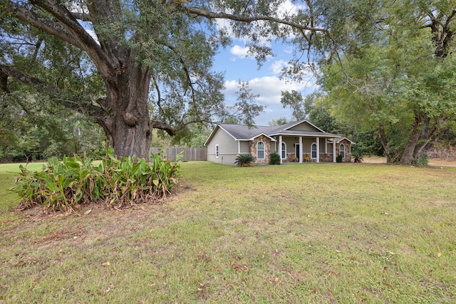
<path fill-rule="evenodd" d="M 299 130 L 299 125 L 306 126 L 306 130 Z M 230 124 L 220 124 L 217 125 L 212 133 L 207 138 L 204 145 L 212 139 L 215 132 L 218 129 L 224 130 L 227 132 L 234 140 L 239 141 L 249 141 L 254 140 L 254 138 L 264 135 L 269 137 L 272 141 L 276 141 L 273 136 L 277 135 L 289 135 L 289 136 L 302 136 L 302 137 L 324 137 L 324 138 L 345 138 L 340 135 L 324 132 L 320 128 L 312 125 L 311 122 L 307 120 L 300 120 L 297 122 L 289 122 L 285 125 L 279 125 L 275 127 L 271 126 L 253 126 L 248 127 L 247 125 L 230 125 Z"/>

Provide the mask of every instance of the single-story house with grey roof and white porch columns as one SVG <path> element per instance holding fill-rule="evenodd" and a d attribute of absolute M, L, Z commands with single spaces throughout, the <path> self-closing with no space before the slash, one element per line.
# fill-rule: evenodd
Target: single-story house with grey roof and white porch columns
<path fill-rule="evenodd" d="M 284 162 L 351 162 L 351 145 L 346 137 L 324 132 L 307 120 L 276 127 L 220 124 L 214 127 L 204 146 L 207 160 L 234 164 L 237 155 L 252 154 L 254 164 L 269 164 L 277 152 Z"/>

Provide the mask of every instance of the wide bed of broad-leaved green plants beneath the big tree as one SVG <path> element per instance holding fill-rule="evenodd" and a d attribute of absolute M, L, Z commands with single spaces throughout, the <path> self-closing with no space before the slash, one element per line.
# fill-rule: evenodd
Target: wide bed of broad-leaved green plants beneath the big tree
<path fill-rule="evenodd" d="M 177 183 L 179 165 L 151 154 L 151 162 L 136 157 L 114 157 L 110 148 L 95 166 L 92 159 L 55 157 L 43 170 L 31 172 L 24 166 L 11 190 L 21 196 L 20 208 L 42 204 L 53 210 L 68 210 L 76 204 L 104 202 L 114 208 L 156 201 L 166 197 Z"/>

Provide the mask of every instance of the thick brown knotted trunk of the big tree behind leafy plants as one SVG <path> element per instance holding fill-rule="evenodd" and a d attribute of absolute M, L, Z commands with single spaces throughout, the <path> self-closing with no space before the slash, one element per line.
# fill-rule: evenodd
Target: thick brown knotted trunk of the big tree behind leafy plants
<path fill-rule="evenodd" d="M 110 146 L 119 156 L 150 158 L 149 85 L 149 71 L 133 61 L 119 67 L 115 83 L 106 83 L 103 108 L 108 110 L 108 115 L 99 122 L 108 135 Z"/>

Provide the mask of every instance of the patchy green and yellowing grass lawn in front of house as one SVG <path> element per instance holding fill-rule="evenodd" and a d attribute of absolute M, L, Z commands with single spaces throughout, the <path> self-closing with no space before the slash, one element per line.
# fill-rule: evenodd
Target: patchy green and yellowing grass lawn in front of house
<path fill-rule="evenodd" d="M 456 168 L 182 163 L 179 194 L 14 211 L 0 303 L 456 303 Z"/>

